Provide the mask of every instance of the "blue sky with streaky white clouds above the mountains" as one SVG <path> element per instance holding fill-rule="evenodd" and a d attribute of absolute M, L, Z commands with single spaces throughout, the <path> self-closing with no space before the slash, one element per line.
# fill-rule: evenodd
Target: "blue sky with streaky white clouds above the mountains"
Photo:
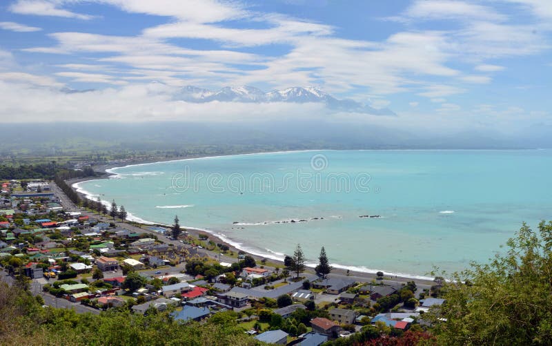
<path fill-rule="evenodd" d="M 550 0 L 5 0 L 0 121 L 322 116 L 515 133 L 552 124 L 551 45 Z M 396 115 L 168 96 L 188 85 L 314 86 Z"/>

